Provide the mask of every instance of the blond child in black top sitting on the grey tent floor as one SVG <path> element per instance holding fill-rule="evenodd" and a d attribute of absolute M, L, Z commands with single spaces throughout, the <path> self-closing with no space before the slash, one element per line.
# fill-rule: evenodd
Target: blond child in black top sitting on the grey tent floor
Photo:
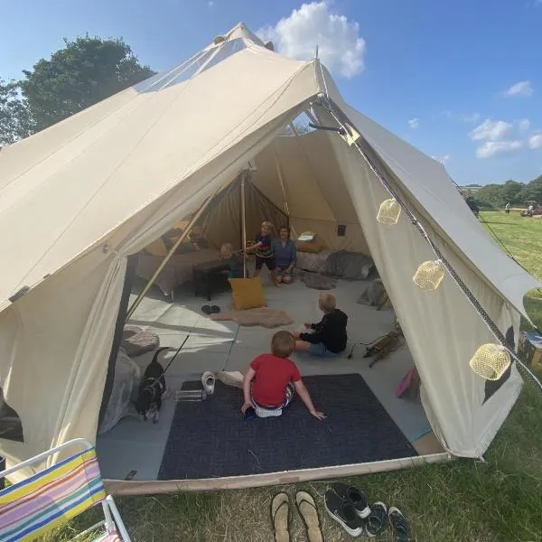
<path fill-rule="evenodd" d="M 307 332 L 294 333 L 295 350 L 313 356 L 335 356 L 346 349 L 348 316 L 337 308 L 332 294 L 321 294 L 318 306 L 323 313 L 322 321 L 305 323 Z"/>

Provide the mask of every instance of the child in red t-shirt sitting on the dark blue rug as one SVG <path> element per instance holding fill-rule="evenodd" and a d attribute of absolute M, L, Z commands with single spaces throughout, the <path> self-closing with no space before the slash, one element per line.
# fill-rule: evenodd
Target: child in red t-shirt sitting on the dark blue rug
<path fill-rule="evenodd" d="M 292 360 L 288 360 L 294 348 L 292 333 L 276 332 L 271 340 L 272 353 L 262 354 L 250 363 L 243 380 L 243 414 L 252 406 L 258 417 L 281 416 L 283 408 L 294 397 L 295 389 L 314 417 L 320 420 L 325 417 L 314 408 L 299 369 Z"/>

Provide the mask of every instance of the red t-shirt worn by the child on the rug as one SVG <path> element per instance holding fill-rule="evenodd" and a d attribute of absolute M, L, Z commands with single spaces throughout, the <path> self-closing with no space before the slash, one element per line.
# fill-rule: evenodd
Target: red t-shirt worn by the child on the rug
<path fill-rule="evenodd" d="M 256 371 L 252 381 L 252 398 L 260 406 L 280 406 L 286 399 L 288 382 L 301 380 L 294 361 L 277 358 L 273 354 L 262 354 L 250 363 Z"/>

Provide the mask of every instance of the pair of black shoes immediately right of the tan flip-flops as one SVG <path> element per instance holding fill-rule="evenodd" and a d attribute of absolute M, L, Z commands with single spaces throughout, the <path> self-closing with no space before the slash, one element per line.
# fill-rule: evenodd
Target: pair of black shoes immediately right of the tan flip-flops
<path fill-rule="evenodd" d="M 328 514 L 350 535 L 360 537 L 365 533 L 363 519 L 371 514 L 365 495 L 345 483 L 334 483 L 325 492 L 325 509 Z"/>

